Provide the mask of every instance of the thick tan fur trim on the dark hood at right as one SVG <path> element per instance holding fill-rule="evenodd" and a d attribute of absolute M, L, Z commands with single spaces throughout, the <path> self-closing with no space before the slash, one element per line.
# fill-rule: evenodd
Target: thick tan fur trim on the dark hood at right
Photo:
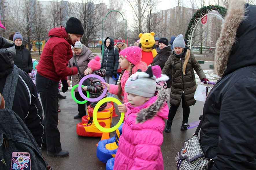
<path fill-rule="evenodd" d="M 222 77 L 229 62 L 231 49 L 236 42 L 236 33 L 239 24 L 244 19 L 244 0 L 233 0 L 228 8 L 227 15 L 221 26 L 220 37 L 216 42 L 214 54 L 215 72 Z"/>

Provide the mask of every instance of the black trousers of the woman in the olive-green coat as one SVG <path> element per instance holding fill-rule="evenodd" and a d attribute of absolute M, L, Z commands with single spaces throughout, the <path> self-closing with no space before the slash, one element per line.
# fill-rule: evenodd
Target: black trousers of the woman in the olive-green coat
<path fill-rule="evenodd" d="M 190 108 L 189 108 L 189 106 L 186 106 L 183 96 L 182 96 L 181 100 L 182 100 L 181 104 L 182 104 L 182 111 L 183 111 L 182 123 L 188 123 Z M 174 119 L 174 116 L 175 116 L 178 108 L 179 108 L 179 105 L 178 106 L 171 105 L 169 114 L 168 114 L 168 120 L 167 120 L 169 123 L 172 123 L 172 120 Z"/>

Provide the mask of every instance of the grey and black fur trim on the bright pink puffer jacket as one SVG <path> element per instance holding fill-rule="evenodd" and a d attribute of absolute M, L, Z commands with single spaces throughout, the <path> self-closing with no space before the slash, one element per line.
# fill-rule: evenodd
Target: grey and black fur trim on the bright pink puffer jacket
<path fill-rule="evenodd" d="M 157 100 L 153 102 L 149 107 L 141 109 L 137 113 L 136 123 L 143 123 L 148 119 L 152 119 L 157 115 L 157 112 L 162 108 L 165 102 L 168 100 L 168 92 L 162 86 L 156 86 Z"/>

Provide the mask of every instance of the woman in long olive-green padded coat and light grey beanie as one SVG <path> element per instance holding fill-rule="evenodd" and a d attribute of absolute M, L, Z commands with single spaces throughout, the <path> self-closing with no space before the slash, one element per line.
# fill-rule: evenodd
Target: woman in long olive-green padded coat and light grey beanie
<path fill-rule="evenodd" d="M 185 47 L 183 35 L 178 35 L 173 42 L 174 50 L 166 61 L 162 70 L 163 74 L 168 74 L 172 69 L 172 86 L 170 93 L 170 110 L 165 128 L 170 132 L 172 120 L 177 112 L 182 99 L 183 120 L 181 130 L 187 130 L 188 117 L 190 113 L 189 106 L 194 105 L 194 93 L 196 91 L 196 80 L 194 70 L 201 80 L 206 79 L 205 74 L 192 52 Z"/>

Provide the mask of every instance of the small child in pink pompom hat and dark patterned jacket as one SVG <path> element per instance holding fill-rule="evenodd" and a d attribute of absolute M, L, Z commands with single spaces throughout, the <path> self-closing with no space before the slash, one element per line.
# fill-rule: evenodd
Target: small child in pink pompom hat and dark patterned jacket
<path fill-rule="evenodd" d="M 105 77 L 105 69 L 101 68 L 100 57 L 95 56 L 94 59 L 90 60 L 87 64 L 88 68 L 84 71 L 84 75 L 95 74 L 101 77 Z M 101 68 L 101 69 L 100 69 Z M 97 98 L 103 93 L 103 87 L 101 81 L 95 77 L 89 78 L 90 85 L 82 87 L 84 91 L 89 91 L 90 98 Z M 106 95 L 104 96 L 106 97 Z M 90 106 L 94 108 L 98 102 L 91 102 Z M 103 103 L 99 111 L 103 110 L 107 106 L 107 102 Z"/>

